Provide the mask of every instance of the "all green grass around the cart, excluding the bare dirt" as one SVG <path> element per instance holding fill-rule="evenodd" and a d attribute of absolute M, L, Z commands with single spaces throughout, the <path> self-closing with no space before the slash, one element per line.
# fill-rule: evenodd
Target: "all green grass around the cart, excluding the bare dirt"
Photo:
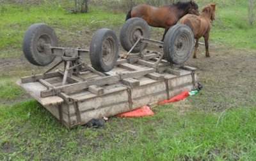
<path fill-rule="evenodd" d="M 254 51 L 256 27 L 247 22 L 247 2 L 215 2 L 218 5 L 217 19 L 212 24 L 211 41 L 229 48 Z M 201 9 L 206 3 L 199 1 L 198 4 Z M 83 41 L 72 42 L 76 38 L 90 39 L 100 27 L 118 31 L 126 12 L 116 13 L 90 6 L 89 13 L 71 14 L 60 3 L 47 2 L 32 6 L 3 3 L 0 7 L 0 59 L 3 60 L 22 55 L 22 36 L 31 24 L 44 22 L 53 27 L 60 46 L 86 46 Z M 163 30 L 154 29 L 154 32 L 161 37 Z M 24 100 L 26 92 L 15 81 L 29 69 L 4 70 L 6 72 L 0 73 L 0 102 L 4 102 L 0 104 L 0 160 L 256 158 L 256 106 L 244 105 L 220 111 L 204 110 L 201 106 L 181 110 L 171 103 L 152 108 L 156 113 L 153 116 L 114 116 L 99 129 L 81 126 L 68 130 L 35 99 Z M 256 78 L 255 75 L 252 78 Z M 233 101 L 231 96 L 228 98 L 227 104 Z M 189 97 L 186 104 L 191 106 L 195 99 L 207 106 L 207 100 L 200 95 Z M 223 102 L 220 99 L 225 98 L 214 101 Z"/>

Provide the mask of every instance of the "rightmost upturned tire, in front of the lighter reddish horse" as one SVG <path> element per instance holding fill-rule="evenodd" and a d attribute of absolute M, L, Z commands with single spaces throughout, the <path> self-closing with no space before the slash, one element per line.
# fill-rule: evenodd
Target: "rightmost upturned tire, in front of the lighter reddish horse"
<path fill-rule="evenodd" d="M 188 25 L 171 27 L 164 37 L 164 57 L 172 64 L 184 64 L 193 50 L 194 36 Z"/>

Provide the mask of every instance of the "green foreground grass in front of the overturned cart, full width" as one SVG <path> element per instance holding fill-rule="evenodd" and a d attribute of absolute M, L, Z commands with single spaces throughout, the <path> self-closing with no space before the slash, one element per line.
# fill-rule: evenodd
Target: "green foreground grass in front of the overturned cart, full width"
<path fill-rule="evenodd" d="M 172 104 L 164 104 L 153 110 L 155 115 L 143 118 L 111 118 L 100 129 L 68 130 L 34 100 L 1 105 L 0 158 L 253 160 L 256 157 L 255 107 L 183 113 Z"/>

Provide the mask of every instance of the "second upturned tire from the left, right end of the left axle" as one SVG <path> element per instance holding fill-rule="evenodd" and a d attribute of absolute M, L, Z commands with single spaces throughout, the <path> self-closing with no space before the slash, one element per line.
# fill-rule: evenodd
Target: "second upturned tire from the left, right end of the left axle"
<path fill-rule="evenodd" d="M 107 50 L 106 50 L 107 48 Z M 100 72 L 113 69 L 118 58 L 118 39 L 111 29 L 98 29 L 90 43 L 92 67 Z"/>

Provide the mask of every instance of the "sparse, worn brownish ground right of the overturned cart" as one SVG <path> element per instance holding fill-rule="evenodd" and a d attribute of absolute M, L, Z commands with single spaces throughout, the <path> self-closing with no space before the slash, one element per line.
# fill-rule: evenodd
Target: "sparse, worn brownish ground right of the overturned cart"
<path fill-rule="evenodd" d="M 194 108 L 255 106 L 256 51 L 211 45 L 211 58 L 206 58 L 204 52 L 204 46 L 200 46 L 198 59 L 189 59 L 187 63 L 198 69 L 198 81 L 204 86 L 202 95 L 189 98 Z"/>

